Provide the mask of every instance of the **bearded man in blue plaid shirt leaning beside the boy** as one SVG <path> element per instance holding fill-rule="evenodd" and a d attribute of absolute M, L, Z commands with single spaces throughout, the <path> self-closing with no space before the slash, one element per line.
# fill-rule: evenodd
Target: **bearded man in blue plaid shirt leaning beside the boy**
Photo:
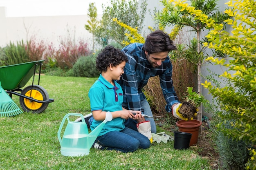
<path fill-rule="evenodd" d="M 173 67 L 168 53 L 175 50 L 173 41 L 168 34 L 157 30 L 150 33 L 145 44 L 130 44 L 122 52 L 128 57 L 124 68 L 124 74 L 118 83 L 124 91 L 123 107 L 128 110 L 140 110 L 144 114 L 153 116 L 148 101 L 142 92 L 148 79 L 159 75 L 160 84 L 166 100 L 166 111 L 171 112 L 173 107 L 180 104 L 173 88 Z M 156 133 L 156 125 L 153 118 L 140 120 L 128 119 L 125 125 L 137 130 L 138 124 L 150 121 L 151 132 Z"/>

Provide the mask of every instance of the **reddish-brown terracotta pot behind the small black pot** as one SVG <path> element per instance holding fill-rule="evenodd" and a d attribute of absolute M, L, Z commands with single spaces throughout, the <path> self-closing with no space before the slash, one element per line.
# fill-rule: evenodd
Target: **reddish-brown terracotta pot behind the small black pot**
<path fill-rule="evenodd" d="M 195 145 L 198 143 L 198 135 L 199 135 L 199 128 L 202 125 L 202 122 L 199 120 L 179 120 L 176 122 L 180 132 L 187 132 L 192 133 L 192 137 L 190 139 L 189 146 Z"/>

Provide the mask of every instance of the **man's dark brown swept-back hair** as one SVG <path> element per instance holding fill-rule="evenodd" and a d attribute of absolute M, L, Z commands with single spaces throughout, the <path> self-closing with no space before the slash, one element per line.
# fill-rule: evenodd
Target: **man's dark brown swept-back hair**
<path fill-rule="evenodd" d="M 176 46 L 173 45 L 169 35 L 161 30 L 148 34 L 144 44 L 144 50 L 148 52 L 148 55 L 151 53 L 170 52 L 175 49 Z"/>

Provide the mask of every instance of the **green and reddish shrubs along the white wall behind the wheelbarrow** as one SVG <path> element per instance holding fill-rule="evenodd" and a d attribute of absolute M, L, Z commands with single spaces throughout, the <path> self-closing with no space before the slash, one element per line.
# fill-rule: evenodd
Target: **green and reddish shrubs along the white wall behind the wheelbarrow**
<path fill-rule="evenodd" d="M 61 76 L 70 76 L 70 73 L 65 74 L 64 72 L 72 69 L 81 56 L 90 55 L 90 50 L 84 40 L 75 42 L 70 35 L 67 38 L 61 38 L 60 42 L 58 48 L 43 40 L 38 42 L 35 36 L 32 36 L 26 43 L 23 40 L 16 44 L 10 42 L 0 49 L 0 66 L 45 60 L 42 67 L 43 73 L 45 71 L 58 72 L 61 73 L 59 74 Z M 54 73 L 54 75 L 56 74 Z"/>

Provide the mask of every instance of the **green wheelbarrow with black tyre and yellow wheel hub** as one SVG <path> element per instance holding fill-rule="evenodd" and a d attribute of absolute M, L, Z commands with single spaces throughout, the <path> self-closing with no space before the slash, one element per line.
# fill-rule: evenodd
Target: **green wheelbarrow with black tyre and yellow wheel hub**
<path fill-rule="evenodd" d="M 2 88 L 10 97 L 12 97 L 12 95 L 20 97 L 20 106 L 25 112 L 41 113 L 48 107 L 49 103 L 54 102 L 54 99 L 49 99 L 49 94 L 45 88 L 39 85 L 41 66 L 44 61 L 45 60 L 38 60 L 0 67 L 0 82 Z M 35 85 L 34 79 L 38 68 L 38 84 Z M 32 76 L 32 84 L 21 89 Z"/>

